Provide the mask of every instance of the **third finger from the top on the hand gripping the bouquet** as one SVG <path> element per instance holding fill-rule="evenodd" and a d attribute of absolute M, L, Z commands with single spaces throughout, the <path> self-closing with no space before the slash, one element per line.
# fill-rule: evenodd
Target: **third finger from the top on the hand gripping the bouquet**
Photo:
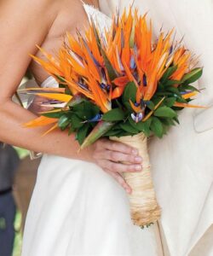
<path fill-rule="evenodd" d="M 110 160 L 97 160 L 97 164 L 111 172 L 141 172 L 141 165 L 125 165 Z"/>

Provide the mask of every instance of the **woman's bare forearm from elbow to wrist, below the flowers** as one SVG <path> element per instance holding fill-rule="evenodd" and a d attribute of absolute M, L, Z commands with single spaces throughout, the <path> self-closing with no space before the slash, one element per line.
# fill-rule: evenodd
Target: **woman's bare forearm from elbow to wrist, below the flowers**
<path fill-rule="evenodd" d="M 42 134 L 51 125 L 25 128 L 24 124 L 37 116 L 10 100 L 1 102 L 0 116 L 0 141 L 4 143 L 35 152 L 56 154 L 72 159 L 91 160 L 91 147 L 78 153 L 79 145 L 74 134 L 68 137 L 66 131 L 55 130 L 42 137 Z"/>

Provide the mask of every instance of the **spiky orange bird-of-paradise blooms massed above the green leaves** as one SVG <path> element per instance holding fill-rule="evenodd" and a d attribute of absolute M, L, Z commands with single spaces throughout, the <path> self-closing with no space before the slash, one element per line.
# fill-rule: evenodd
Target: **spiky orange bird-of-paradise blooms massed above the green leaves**
<path fill-rule="evenodd" d="M 78 32 L 67 40 L 57 57 L 45 52 L 46 61 L 32 56 L 43 68 L 67 84 L 72 94 L 81 93 L 93 100 L 103 113 L 111 109 L 112 99 L 124 92 L 125 85 L 133 81 L 137 86 L 136 103 L 152 99 L 171 63 L 177 66 L 171 79 L 181 80 L 190 66 L 190 53 L 178 44 L 173 45 L 173 31 L 153 44 L 152 22 L 147 25 L 146 15 L 124 14 L 114 17 L 112 27 L 105 34 L 94 23 L 85 38 Z M 132 104 L 133 105 L 133 104 Z M 134 107 L 138 112 L 140 107 Z"/>

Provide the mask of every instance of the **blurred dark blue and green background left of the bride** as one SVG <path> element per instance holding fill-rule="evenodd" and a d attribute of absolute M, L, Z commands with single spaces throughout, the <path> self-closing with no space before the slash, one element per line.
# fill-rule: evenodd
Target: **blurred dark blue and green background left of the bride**
<path fill-rule="evenodd" d="M 28 79 L 30 74 L 26 74 L 20 86 Z M 20 103 L 15 96 L 14 101 Z M 22 102 L 26 107 L 27 100 Z M 32 160 L 28 150 L 0 142 L 0 256 L 20 256 L 26 212 L 39 163 L 40 158 Z"/>

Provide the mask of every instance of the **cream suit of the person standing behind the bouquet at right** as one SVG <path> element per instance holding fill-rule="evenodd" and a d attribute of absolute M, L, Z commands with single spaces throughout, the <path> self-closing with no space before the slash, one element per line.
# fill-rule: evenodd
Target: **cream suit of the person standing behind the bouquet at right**
<path fill-rule="evenodd" d="M 124 9 L 132 1 L 100 2 L 110 15 L 118 4 Z M 172 127 L 163 140 L 154 138 L 150 154 L 168 255 L 212 256 L 213 229 L 205 242 L 204 234 L 213 224 L 213 1 L 135 0 L 134 5 L 141 14 L 148 11 L 156 35 L 162 25 L 164 30 L 175 27 L 176 37 L 184 36 L 187 48 L 200 55 L 204 67 L 197 85 L 205 90 L 193 103 L 210 108 L 183 110 L 181 125 Z"/>

